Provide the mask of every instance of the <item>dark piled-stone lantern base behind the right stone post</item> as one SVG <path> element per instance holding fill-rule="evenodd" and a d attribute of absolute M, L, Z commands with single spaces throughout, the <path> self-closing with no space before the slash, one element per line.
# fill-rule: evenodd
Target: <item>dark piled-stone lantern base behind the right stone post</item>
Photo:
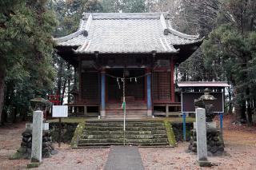
<path fill-rule="evenodd" d="M 190 152 L 197 152 L 197 134 L 196 130 L 191 130 L 190 136 Z M 222 156 L 224 153 L 224 142 L 222 141 L 221 132 L 217 128 L 207 128 L 207 151 L 208 156 Z"/>

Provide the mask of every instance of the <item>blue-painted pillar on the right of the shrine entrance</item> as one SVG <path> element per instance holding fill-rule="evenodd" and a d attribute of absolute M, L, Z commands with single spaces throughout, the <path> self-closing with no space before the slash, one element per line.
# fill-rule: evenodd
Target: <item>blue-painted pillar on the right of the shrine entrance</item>
<path fill-rule="evenodd" d="M 147 116 L 152 117 L 152 100 L 151 100 L 151 73 L 150 69 L 146 70 L 146 102 L 147 102 Z"/>

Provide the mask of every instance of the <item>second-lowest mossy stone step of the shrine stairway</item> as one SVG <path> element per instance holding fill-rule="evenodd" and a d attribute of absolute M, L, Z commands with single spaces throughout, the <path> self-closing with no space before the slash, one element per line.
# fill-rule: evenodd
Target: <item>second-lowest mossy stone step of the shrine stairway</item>
<path fill-rule="evenodd" d="M 122 143 L 123 139 L 81 139 L 78 144 L 90 144 L 90 143 Z M 166 143 L 168 144 L 167 138 L 160 139 L 126 139 L 127 143 L 143 144 L 143 143 Z"/>

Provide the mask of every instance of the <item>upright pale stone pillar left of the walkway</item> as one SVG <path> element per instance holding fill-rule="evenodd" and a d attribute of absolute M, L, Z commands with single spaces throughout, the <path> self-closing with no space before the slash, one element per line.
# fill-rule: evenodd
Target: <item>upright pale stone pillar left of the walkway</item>
<path fill-rule="evenodd" d="M 42 162 L 42 111 L 34 111 L 31 162 Z"/>

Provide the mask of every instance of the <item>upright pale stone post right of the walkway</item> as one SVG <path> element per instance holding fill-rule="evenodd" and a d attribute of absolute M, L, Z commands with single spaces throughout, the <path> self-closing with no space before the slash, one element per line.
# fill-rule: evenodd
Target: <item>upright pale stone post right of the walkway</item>
<path fill-rule="evenodd" d="M 206 109 L 198 108 L 196 112 L 196 132 L 198 165 L 201 167 L 211 166 L 207 160 L 207 140 L 206 140 Z"/>

